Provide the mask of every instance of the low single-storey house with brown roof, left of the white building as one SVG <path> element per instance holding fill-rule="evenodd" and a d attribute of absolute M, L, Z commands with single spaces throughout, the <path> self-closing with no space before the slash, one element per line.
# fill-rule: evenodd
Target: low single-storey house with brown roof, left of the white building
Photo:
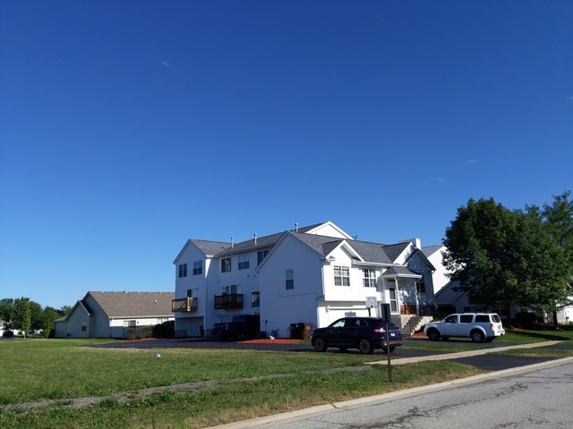
<path fill-rule="evenodd" d="M 56 320 L 56 338 L 124 338 L 126 328 L 174 320 L 173 292 L 88 292 Z"/>

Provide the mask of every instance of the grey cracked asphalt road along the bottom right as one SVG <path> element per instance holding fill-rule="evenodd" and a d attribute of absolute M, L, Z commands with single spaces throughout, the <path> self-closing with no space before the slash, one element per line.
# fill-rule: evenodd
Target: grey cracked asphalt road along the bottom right
<path fill-rule="evenodd" d="M 571 428 L 573 362 L 401 399 L 332 404 L 303 415 L 223 427 L 269 429 Z"/>

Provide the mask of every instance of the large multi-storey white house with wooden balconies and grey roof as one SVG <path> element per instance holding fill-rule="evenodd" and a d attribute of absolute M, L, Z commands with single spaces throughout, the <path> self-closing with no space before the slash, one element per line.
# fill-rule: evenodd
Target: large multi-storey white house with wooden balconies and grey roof
<path fill-rule="evenodd" d="M 175 335 L 196 336 L 234 315 L 261 315 L 261 332 L 326 326 L 345 315 L 380 315 L 402 327 L 433 305 L 432 272 L 419 240 L 353 240 L 320 223 L 235 244 L 188 240 L 175 258 Z"/>

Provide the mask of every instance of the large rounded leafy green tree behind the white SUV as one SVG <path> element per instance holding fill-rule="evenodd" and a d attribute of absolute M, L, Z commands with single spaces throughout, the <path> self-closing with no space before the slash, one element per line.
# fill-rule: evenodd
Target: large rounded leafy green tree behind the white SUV
<path fill-rule="evenodd" d="M 509 210 L 492 198 L 458 209 L 446 230 L 444 265 L 470 302 L 486 307 L 514 305 L 549 310 L 562 295 L 563 252 L 539 216 Z M 510 319 L 508 319 L 510 324 Z"/>

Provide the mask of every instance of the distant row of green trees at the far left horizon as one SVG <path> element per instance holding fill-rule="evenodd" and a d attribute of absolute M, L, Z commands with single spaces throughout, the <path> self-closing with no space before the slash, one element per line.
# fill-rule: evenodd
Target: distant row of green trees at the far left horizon
<path fill-rule="evenodd" d="M 29 298 L 0 299 L 0 319 L 5 322 L 4 329 L 10 331 L 43 331 L 47 336 L 54 331 L 56 319 L 71 311 L 70 306 L 42 307 Z"/>

